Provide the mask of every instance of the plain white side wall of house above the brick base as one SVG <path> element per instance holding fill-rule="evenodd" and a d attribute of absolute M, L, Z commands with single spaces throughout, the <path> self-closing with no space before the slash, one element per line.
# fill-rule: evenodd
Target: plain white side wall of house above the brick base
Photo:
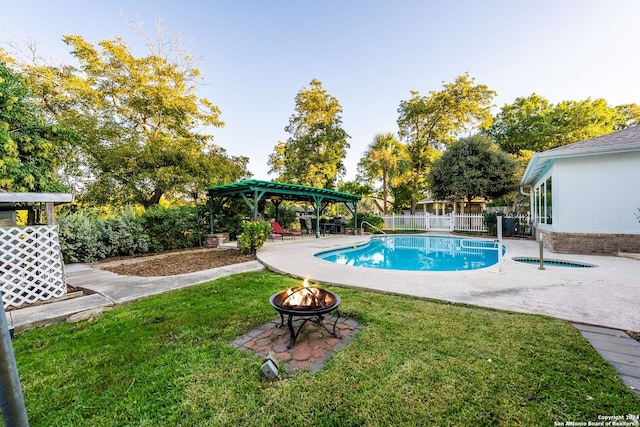
<path fill-rule="evenodd" d="M 640 234 L 640 152 L 556 159 L 553 229 Z"/>

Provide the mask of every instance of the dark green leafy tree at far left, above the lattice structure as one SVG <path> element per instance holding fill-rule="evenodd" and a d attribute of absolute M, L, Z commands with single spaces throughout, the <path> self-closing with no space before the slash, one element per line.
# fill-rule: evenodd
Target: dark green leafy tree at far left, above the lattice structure
<path fill-rule="evenodd" d="M 0 62 L 0 189 L 62 192 L 58 169 L 76 138 L 47 123 L 21 75 Z"/>

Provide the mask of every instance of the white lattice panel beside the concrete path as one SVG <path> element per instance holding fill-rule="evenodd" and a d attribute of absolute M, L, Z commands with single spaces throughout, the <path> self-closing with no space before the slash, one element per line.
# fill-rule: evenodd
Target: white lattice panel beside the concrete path
<path fill-rule="evenodd" d="M 0 228 L 0 289 L 5 308 L 67 292 L 56 226 Z"/>

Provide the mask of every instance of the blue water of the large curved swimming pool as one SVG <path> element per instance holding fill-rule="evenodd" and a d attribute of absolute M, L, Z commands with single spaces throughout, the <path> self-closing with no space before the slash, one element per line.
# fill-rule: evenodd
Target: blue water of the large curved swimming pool
<path fill-rule="evenodd" d="M 502 253 L 506 248 L 502 247 Z M 375 236 L 363 245 L 316 254 L 355 267 L 412 271 L 461 271 L 498 263 L 498 242 L 448 236 Z"/>

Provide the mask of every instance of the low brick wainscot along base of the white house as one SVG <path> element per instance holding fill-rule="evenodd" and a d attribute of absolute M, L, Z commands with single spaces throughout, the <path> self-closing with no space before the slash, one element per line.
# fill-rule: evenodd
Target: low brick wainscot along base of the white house
<path fill-rule="evenodd" d="M 544 246 L 561 254 L 617 255 L 640 253 L 640 234 L 558 233 L 537 229 L 544 235 Z"/>

